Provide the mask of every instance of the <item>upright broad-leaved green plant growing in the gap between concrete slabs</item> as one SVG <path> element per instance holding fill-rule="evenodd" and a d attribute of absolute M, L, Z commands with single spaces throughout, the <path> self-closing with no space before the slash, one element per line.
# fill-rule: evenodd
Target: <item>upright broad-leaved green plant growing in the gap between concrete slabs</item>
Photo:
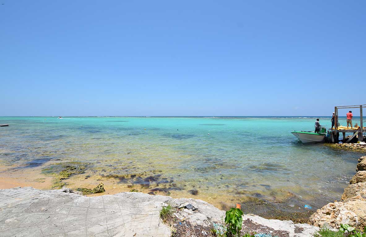
<path fill-rule="evenodd" d="M 225 214 L 225 224 L 227 237 L 239 236 L 243 224 L 243 212 L 239 208 L 231 208 Z"/>

